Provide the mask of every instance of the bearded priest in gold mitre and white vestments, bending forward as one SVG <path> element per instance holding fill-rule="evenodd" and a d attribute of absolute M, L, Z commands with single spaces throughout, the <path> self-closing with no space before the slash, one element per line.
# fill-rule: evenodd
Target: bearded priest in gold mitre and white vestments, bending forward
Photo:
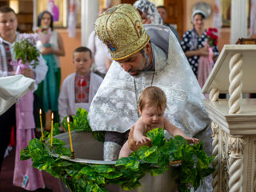
<path fill-rule="evenodd" d="M 138 98 L 158 86 L 167 98 L 165 116 L 188 137 L 198 137 L 211 153 L 210 120 L 204 98 L 177 38 L 166 26 L 142 25 L 130 4 L 106 10 L 95 31 L 113 62 L 90 106 L 92 130 L 106 131 L 104 160 L 117 160 L 130 127 L 139 118 Z"/>

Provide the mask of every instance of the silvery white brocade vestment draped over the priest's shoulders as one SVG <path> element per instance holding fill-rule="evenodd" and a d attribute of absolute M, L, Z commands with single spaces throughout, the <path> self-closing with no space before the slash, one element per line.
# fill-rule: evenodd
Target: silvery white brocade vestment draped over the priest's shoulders
<path fill-rule="evenodd" d="M 188 136 L 204 130 L 210 120 L 202 92 L 174 34 L 166 26 L 144 25 L 154 51 L 155 71 L 133 77 L 112 62 L 89 112 L 92 130 L 130 130 L 138 120 L 138 98 L 146 87 L 158 86 L 167 98 L 166 118 Z M 167 55 L 167 58 L 166 58 Z"/>

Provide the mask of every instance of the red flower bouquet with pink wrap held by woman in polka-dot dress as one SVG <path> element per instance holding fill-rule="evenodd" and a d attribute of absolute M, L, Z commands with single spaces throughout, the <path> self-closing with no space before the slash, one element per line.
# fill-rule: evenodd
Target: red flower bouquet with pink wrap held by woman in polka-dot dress
<path fill-rule="evenodd" d="M 208 78 L 210 71 L 214 65 L 213 57 L 214 51 L 213 46 L 216 46 L 218 43 L 218 30 L 216 28 L 209 28 L 206 31 L 207 41 L 203 42 L 203 45 L 208 49 L 208 56 L 200 56 L 198 60 L 198 83 L 202 87 L 206 79 Z M 208 98 L 208 94 L 205 94 Z"/>

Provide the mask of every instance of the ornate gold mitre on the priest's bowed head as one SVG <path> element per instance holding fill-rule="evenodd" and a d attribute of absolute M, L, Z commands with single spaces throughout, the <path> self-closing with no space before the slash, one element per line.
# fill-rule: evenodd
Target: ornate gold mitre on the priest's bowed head
<path fill-rule="evenodd" d="M 106 10 L 96 20 L 95 31 L 116 61 L 137 53 L 150 41 L 138 10 L 130 4 L 119 4 Z"/>

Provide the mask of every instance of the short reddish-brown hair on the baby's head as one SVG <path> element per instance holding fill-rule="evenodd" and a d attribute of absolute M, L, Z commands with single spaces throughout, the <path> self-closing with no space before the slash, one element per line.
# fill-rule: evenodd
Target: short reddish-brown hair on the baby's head
<path fill-rule="evenodd" d="M 142 91 L 138 101 L 138 110 L 145 106 L 156 106 L 159 111 L 166 109 L 166 94 L 157 86 L 149 86 Z"/>

